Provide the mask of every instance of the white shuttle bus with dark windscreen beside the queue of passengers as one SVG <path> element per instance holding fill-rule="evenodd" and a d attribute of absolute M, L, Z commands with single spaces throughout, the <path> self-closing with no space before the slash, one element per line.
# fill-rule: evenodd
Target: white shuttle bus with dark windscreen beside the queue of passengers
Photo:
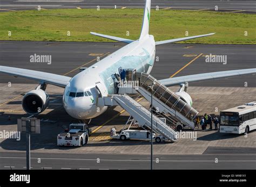
<path fill-rule="evenodd" d="M 221 133 L 249 133 L 256 129 L 256 102 L 220 112 Z"/>

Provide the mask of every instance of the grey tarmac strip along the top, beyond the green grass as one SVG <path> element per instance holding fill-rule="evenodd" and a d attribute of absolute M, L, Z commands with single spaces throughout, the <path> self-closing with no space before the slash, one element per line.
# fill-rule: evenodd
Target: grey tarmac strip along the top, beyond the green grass
<path fill-rule="evenodd" d="M 40 5 L 42 9 L 72 9 L 72 8 L 144 8 L 143 0 L 118 1 L 118 0 L 2 0 L 0 11 L 33 10 Z M 218 6 L 218 11 L 235 13 L 255 13 L 255 1 L 152 1 L 152 8 L 181 9 L 181 10 L 212 10 Z"/>

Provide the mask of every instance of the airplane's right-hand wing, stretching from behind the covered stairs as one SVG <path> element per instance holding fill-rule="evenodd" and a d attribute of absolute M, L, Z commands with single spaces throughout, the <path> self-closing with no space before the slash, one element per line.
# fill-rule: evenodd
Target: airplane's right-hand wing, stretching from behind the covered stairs
<path fill-rule="evenodd" d="M 212 80 L 215 78 L 224 78 L 224 77 L 231 77 L 231 76 L 245 75 L 245 74 L 255 74 L 255 73 L 256 73 L 256 68 L 251 68 L 251 69 L 217 71 L 212 73 L 186 75 L 186 76 L 180 76 L 180 77 L 174 77 L 174 78 L 166 78 L 159 81 L 163 83 L 166 87 L 170 87 L 172 85 L 178 85 L 186 82 L 188 83 L 199 82 L 199 81 Z"/>

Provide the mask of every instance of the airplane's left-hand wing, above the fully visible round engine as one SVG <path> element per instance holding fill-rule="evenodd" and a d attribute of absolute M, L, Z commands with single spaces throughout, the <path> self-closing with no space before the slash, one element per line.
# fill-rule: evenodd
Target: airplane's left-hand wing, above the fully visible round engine
<path fill-rule="evenodd" d="M 45 73 L 42 71 L 35 71 L 22 68 L 12 68 L 7 66 L 0 66 L 0 73 L 6 73 L 17 77 L 24 77 L 30 80 L 38 81 L 40 83 L 47 83 L 56 85 L 57 87 L 65 88 L 71 77 Z"/>

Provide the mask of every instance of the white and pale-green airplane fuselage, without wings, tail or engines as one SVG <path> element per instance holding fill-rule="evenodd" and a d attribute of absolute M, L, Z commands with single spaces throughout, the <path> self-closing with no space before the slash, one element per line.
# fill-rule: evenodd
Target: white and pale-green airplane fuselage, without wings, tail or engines
<path fill-rule="evenodd" d="M 156 47 L 153 35 L 136 40 L 71 78 L 63 94 L 63 105 L 76 119 L 91 119 L 106 111 L 97 106 L 98 97 L 117 93 L 114 74 L 120 69 L 150 73 Z"/>

